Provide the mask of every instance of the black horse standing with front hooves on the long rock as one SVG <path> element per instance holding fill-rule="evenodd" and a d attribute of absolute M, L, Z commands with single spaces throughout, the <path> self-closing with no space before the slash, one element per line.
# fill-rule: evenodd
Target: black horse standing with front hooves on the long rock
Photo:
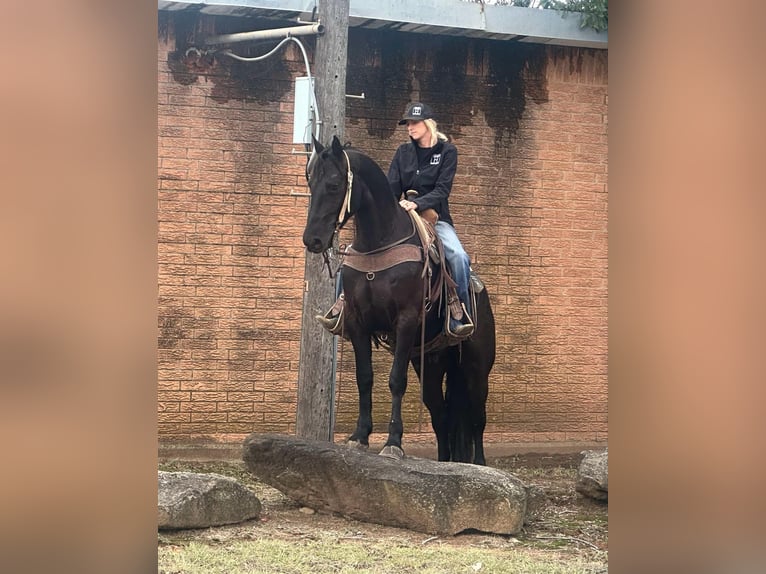
<path fill-rule="evenodd" d="M 303 232 L 308 250 L 320 253 L 329 249 L 333 235 L 353 216 L 354 253 L 379 257 L 392 250 L 412 254 L 414 249 L 418 253 L 421 243 L 413 219 L 397 203 L 380 167 L 362 152 L 344 148 L 337 137 L 328 149 L 316 140 L 314 147 L 315 156 L 307 171 L 311 206 Z M 382 339 L 389 343 L 393 364 L 388 380 L 391 390 L 388 440 L 380 454 L 404 456 L 401 406 L 411 361 L 421 379 L 439 460 L 485 464 L 482 441 L 488 377 L 495 359 L 495 324 L 489 296 L 486 289 L 474 290 L 476 330 L 471 338 L 451 346 L 420 346 L 421 339 L 429 341 L 439 335 L 443 319 L 439 318 L 437 305 L 430 309 L 424 305 L 429 283 L 423 279 L 422 250 L 418 257 L 403 259 L 393 266 L 380 265 L 372 272 L 343 266 L 343 336 L 354 348 L 359 391 L 359 418 L 348 442 L 363 448 L 369 446 L 372 343 Z M 424 313 L 426 324 L 422 331 Z M 419 347 L 425 351 L 422 358 Z M 446 392 L 442 389 L 445 374 Z"/>

